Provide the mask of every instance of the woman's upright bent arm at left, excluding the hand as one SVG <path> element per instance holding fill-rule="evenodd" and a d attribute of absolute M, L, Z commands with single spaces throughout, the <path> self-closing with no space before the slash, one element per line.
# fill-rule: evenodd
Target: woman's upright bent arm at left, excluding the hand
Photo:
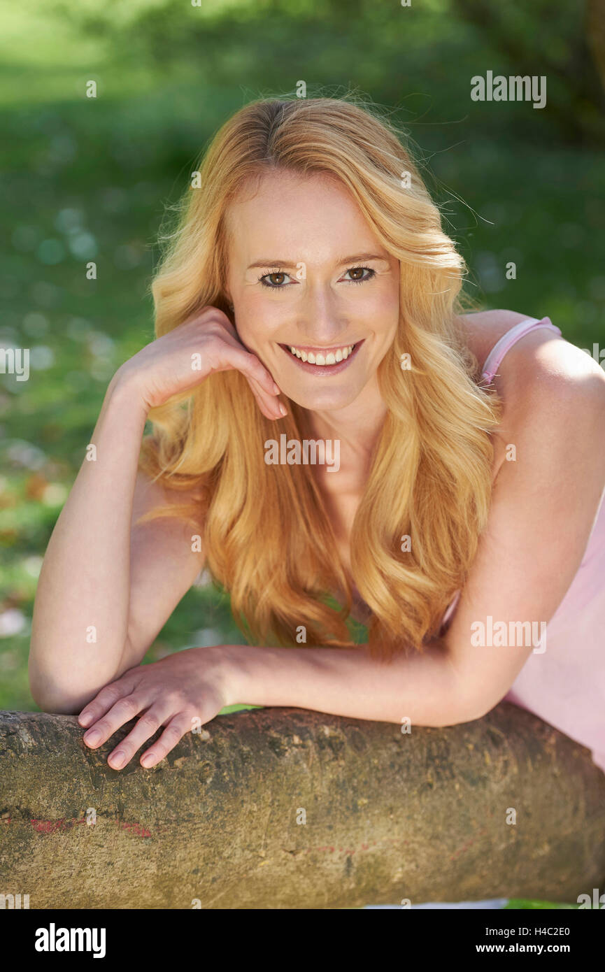
<path fill-rule="evenodd" d="M 29 676 L 42 709 L 78 711 L 139 662 L 201 569 L 178 521 L 145 524 L 131 536 L 145 509 L 170 502 L 137 474 L 145 420 L 139 399 L 112 380 L 91 438 L 96 458 L 82 464 L 40 573 Z M 159 562 L 169 565 L 161 584 Z"/>

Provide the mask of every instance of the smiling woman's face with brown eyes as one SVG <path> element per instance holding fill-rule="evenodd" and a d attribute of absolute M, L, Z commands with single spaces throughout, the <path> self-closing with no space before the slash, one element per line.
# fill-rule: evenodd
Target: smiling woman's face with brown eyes
<path fill-rule="evenodd" d="M 358 399 L 395 337 L 399 262 L 349 192 L 323 174 L 270 173 L 231 205 L 228 227 L 243 344 L 304 408 Z"/>

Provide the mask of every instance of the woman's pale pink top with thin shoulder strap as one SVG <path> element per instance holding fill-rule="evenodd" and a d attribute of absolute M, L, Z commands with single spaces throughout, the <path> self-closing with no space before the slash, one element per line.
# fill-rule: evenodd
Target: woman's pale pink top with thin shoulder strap
<path fill-rule="evenodd" d="M 487 357 L 491 381 L 507 351 L 536 328 L 561 331 L 550 318 L 528 318 L 509 330 Z M 587 746 L 605 772 L 605 489 L 597 506 L 582 563 L 547 626 L 546 650 L 529 655 L 505 702 L 534 712 Z M 442 633 L 460 597 L 446 609 Z"/>

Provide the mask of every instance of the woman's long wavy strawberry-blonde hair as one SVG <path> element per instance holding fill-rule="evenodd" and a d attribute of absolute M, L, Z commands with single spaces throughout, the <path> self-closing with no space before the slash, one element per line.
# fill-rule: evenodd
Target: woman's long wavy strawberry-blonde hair
<path fill-rule="evenodd" d="M 490 433 L 500 404 L 481 387 L 455 321 L 465 303 L 465 261 L 404 142 L 390 121 L 350 98 L 246 105 L 198 165 L 200 188 L 185 195 L 152 285 L 158 337 L 207 304 L 236 327 L 225 291 L 226 212 L 244 187 L 275 168 L 336 177 L 400 261 L 399 327 L 377 372 L 387 415 L 350 536 L 352 579 L 372 611 L 370 649 L 382 658 L 421 650 L 464 582 L 487 521 Z M 207 570 L 256 643 L 294 644 L 304 630 L 307 645 L 350 646 L 351 578 L 312 469 L 265 462 L 268 438 L 309 437 L 306 410 L 286 405 L 289 414 L 269 422 L 232 370 L 154 409 L 140 468 L 190 497 L 143 519 L 192 523 Z"/>

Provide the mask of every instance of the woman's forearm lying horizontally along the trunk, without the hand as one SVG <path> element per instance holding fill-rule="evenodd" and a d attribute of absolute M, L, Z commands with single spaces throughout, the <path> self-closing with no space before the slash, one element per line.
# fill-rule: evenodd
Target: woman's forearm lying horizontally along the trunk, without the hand
<path fill-rule="evenodd" d="M 233 645 L 230 702 L 292 706 L 352 718 L 423 726 L 477 718 L 443 642 L 422 653 L 373 659 L 367 645 L 266 648 Z M 235 698 L 236 696 L 236 698 Z"/>

